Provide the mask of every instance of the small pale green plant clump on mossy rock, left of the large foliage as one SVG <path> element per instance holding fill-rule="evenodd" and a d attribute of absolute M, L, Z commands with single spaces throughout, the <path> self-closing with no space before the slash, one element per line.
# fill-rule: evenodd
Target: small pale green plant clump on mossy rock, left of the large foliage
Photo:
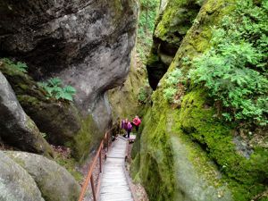
<path fill-rule="evenodd" d="M 178 84 L 182 81 L 182 72 L 180 69 L 175 69 L 167 74 L 164 81 L 167 87 L 163 89 L 163 96 L 169 103 L 175 103 L 174 96 L 177 94 Z"/>

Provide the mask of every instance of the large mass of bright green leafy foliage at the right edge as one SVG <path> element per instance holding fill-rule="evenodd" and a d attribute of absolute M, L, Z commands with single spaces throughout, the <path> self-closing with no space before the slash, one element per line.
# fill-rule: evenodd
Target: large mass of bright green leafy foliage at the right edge
<path fill-rule="evenodd" d="M 190 78 L 222 102 L 228 121 L 268 122 L 267 21 L 267 1 L 239 1 L 222 28 L 213 29 L 212 48 L 192 63 Z"/>

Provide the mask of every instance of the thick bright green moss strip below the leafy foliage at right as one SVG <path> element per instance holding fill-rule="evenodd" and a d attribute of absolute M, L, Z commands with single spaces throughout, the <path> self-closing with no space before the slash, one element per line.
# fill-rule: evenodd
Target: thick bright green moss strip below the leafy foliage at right
<path fill-rule="evenodd" d="M 264 191 L 268 151 L 255 147 L 250 159 L 239 155 L 232 142 L 232 125 L 214 117 L 214 107 L 206 105 L 210 102 L 208 99 L 202 89 L 195 89 L 184 97 L 178 130 L 205 147 L 224 173 L 235 200 L 248 200 Z"/>

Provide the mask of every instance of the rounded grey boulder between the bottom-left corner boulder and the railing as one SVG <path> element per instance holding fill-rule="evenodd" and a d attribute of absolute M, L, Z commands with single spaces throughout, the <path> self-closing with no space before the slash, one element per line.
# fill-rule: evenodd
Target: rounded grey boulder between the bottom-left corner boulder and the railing
<path fill-rule="evenodd" d="M 42 157 L 25 152 L 5 152 L 36 181 L 46 201 L 75 201 L 80 196 L 80 185 L 63 167 Z M 32 179 L 31 179 L 32 180 Z"/>

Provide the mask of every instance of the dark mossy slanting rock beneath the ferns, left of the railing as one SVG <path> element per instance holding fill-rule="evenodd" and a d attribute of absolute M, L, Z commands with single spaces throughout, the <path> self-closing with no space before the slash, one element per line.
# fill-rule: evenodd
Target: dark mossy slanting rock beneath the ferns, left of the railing
<path fill-rule="evenodd" d="M 71 147 L 72 155 L 80 161 L 96 147 L 103 133 L 91 114 L 81 114 L 68 101 L 48 98 L 46 91 L 27 73 L 16 68 L 13 62 L 1 60 L 0 71 L 12 85 L 22 108 L 38 129 L 46 133 L 47 141 Z"/>

